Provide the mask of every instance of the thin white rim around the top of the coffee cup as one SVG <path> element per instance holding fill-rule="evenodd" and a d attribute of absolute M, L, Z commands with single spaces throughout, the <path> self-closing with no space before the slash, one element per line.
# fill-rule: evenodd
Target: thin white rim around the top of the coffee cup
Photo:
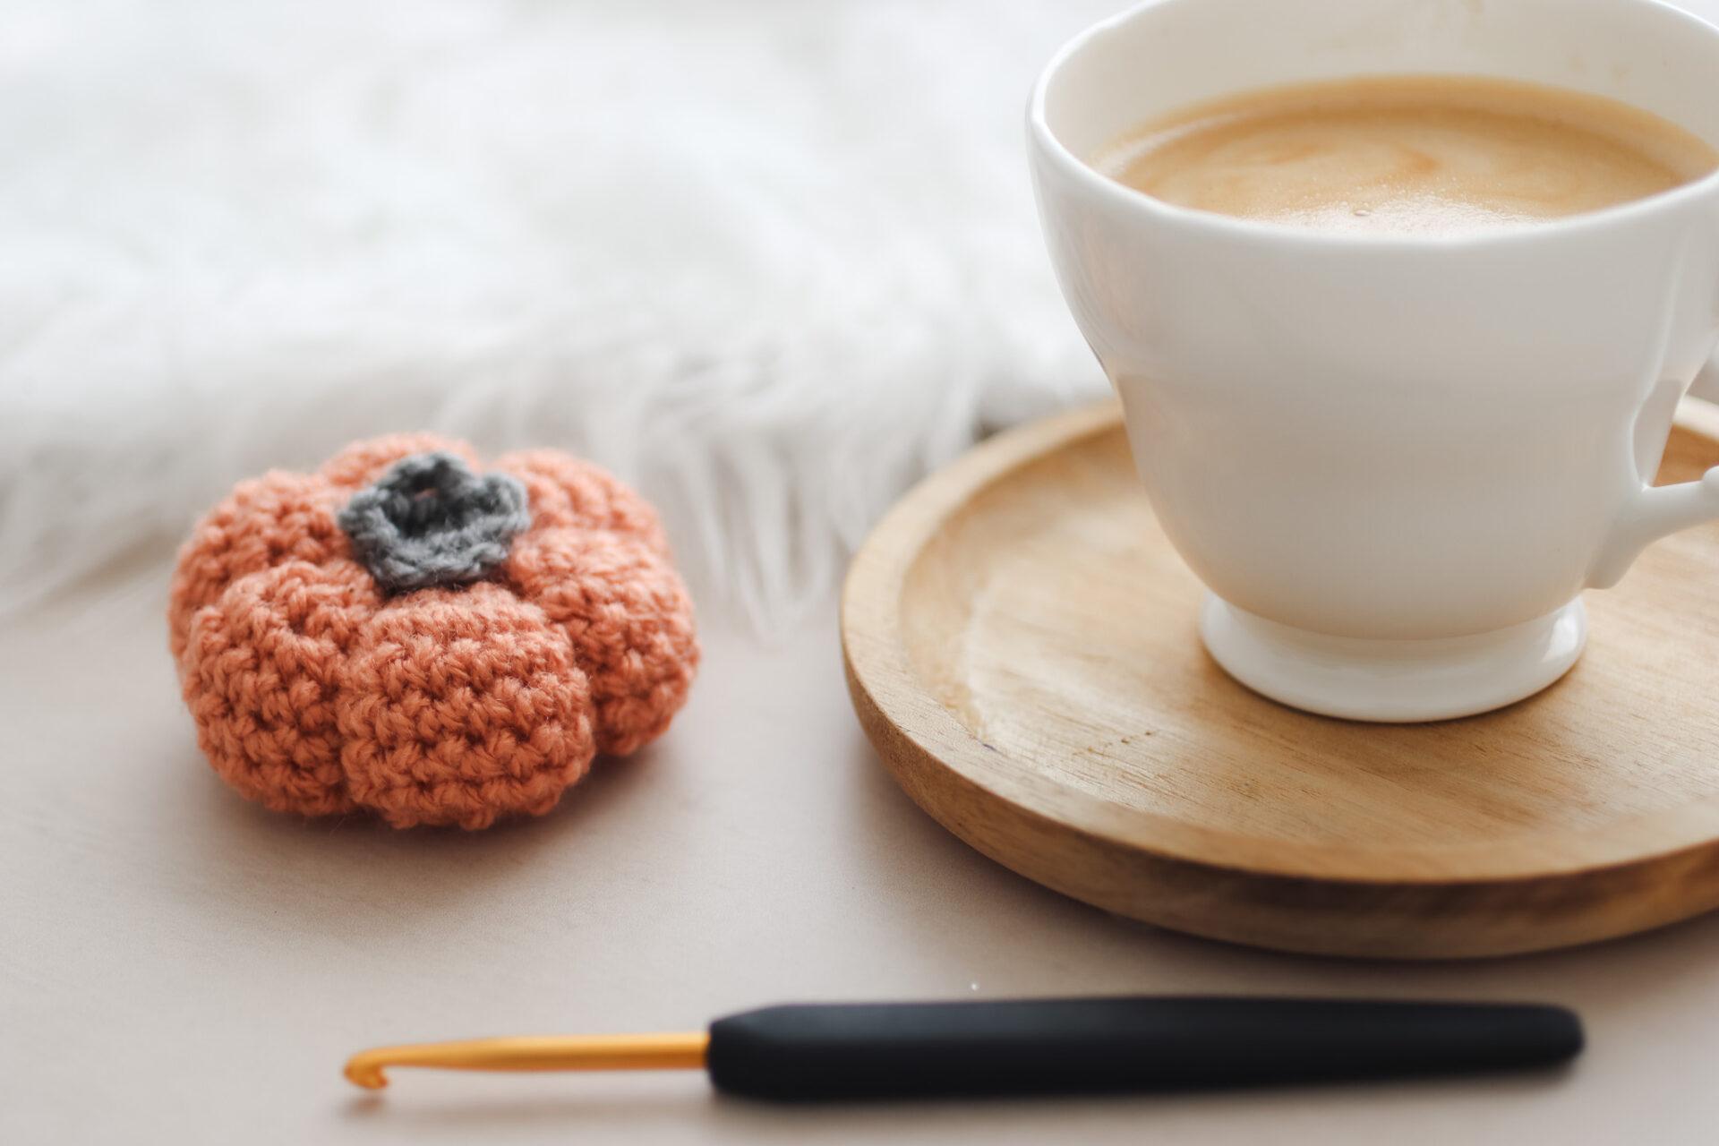
<path fill-rule="evenodd" d="M 1121 182 L 1100 174 L 1090 163 L 1081 160 L 1078 155 L 1069 151 L 1057 132 L 1052 131 L 1045 117 L 1045 93 L 1050 84 L 1057 79 L 1067 64 L 1078 57 L 1088 45 L 1104 36 L 1117 33 L 1126 24 L 1138 19 L 1148 9 L 1157 9 L 1165 3 L 1198 3 L 1200 0 L 1141 0 L 1116 15 L 1109 15 L 1088 27 L 1078 31 L 1074 36 L 1066 40 L 1061 48 L 1050 57 L 1043 70 L 1038 72 L 1038 79 L 1033 81 L 1033 91 L 1026 103 L 1026 124 L 1028 136 L 1037 146 L 1038 153 L 1055 165 L 1064 175 L 1073 177 L 1076 182 L 1085 184 L 1085 187 L 1109 201 L 1123 206 L 1124 210 L 1140 211 L 1160 223 L 1171 223 L 1179 227 L 1190 227 L 1200 230 L 1210 237 L 1222 239 L 1246 239 L 1246 241 L 1265 241 L 1279 242 L 1291 247 L 1353 247 L 1367 251 L 1387 251 L 1387 249 L 1408 249 L 1408 251 L 1454 251 L 1454 249 L 1471 249 L 1480 246 L 1504 246 L 1504 244 L 1530 244 L 1544 242 L 1549 239 L 1559 239 L 1569 234 L 1580 234 L 1588 230 L 1597 230 L 1600 227 L 1611 227 L 1614 223 L 1626 223 L 1633 218 L 1640 218 L 1655 211 L 1674 210 L 1683 206 L 1691 199 L 1700 199 L 1719 192 L 1719 168 L 1702 175 L 1700 179 L 1690 180 L 1678 187 L 1667 191 L 1657 191 L 1650 196 L 1640 199 L 1630 199 L 1626 203 L 1618 203 L 1612 206 L 1600 208 L 1597 211 L 1581 211 L 1578 215 L 1566 215 L 1556 220 L 1539 222 L 1532 227 L 1501 227 L 1497 230 L 1475 230 L 1454 235 L 1420 235 L 1420 234 L 1386 234 L 1386 235 L 1368 235 L 1356 232 L 1341 230 L 1315 230 L 1308 227 L 1293 227 L 1289 223 L 1275 223 L 1258 218 L 1241 218 L 1236 215 L 1219 215 L 1217 211 L 1203 211 L 1200 208 L 1179 206 L 1148 196 L 1143 191 L 1126 187 Z M 1671 15 L 1683 19 L 1690 24 L 1691 31 L 1698 31 L 1707 36 L 1719 38 L 1719 26 L 1695 15 L 1693 12 L 1681 9 L 1669 0 L 1631 0 L 1640 7 L 1664 9 Z M 1716 96 L 1719 96 L 1719 86 L 1716 86 Z"/>

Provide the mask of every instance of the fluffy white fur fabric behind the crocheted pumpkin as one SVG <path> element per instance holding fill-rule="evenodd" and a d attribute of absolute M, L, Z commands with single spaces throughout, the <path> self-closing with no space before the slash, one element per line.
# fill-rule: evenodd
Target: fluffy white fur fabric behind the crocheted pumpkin
<path fill-rule="evenodd" d="M 1116 0 L 7 0 L 0 613 L 407 428 L 588 454 L 780 620 L 1104 380 L 1021 113 Z"/>

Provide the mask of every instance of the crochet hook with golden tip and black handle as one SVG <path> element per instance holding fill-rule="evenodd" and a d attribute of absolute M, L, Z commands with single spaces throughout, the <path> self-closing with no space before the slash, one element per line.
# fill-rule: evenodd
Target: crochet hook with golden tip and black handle
<path fill-rule="evenodd" d="M 382 1046 L 385 1067 L 672 1070 L 767 1100 L 1174 1091 L 1475 1074 L 1564 1062 L 1581 1022 L 1561 1007 L 1312 998 L 1042 998 L 748 1010 L 682 1034 L 485 1038 Z"/>

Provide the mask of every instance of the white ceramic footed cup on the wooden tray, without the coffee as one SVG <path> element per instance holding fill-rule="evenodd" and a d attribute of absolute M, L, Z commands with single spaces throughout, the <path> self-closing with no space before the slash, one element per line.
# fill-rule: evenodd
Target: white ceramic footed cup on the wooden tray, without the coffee
<path fill-rule="evenodd" d="M 1544 689 L 1581 655 L 1585 588 L 1719 517 L 1719 471 L 1649 486 L 1719 338 L 1719 174 L 1382 237 L 1178 208 L 1088 167 L 1190 103 L 1432 72 L 1612 96 L 1719 146 L 1719 29 L 1654 0 L 1160 0 L 1066 45 L 1028 113 L 1052 263 L 1212 589 L 1207 648 L 1360 720 Z"/>

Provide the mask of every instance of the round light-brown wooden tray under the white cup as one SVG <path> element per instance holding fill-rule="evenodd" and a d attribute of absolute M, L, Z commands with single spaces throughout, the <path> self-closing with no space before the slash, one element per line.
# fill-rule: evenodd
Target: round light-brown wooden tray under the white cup
<path fill-rule="evenodd" d="M 1679 412 L 1661 481 L 1719 464 Z M 1719 526 L 1588 594 L 1588 651 L 1497 713 L 1310 716 L 1233 682 L 1114 405 L 928 478 L 854 558 L 847 682 L 908 794 L 992 859 L 1165 928 L 1470 957 L 1719 905 Z"/>

